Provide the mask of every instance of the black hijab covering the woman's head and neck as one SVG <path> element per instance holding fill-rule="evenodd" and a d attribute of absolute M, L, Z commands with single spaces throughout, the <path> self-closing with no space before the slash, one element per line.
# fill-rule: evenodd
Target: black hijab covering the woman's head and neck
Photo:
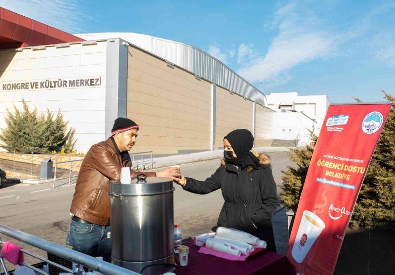
<path fill-rule="evenodd" d="M 227 134 L 224 139 L 227 139 L 236 153 L 237 159 L 235 165 L 253 166 L 260 165 L 259 158 L 250 152 L 254 146 L 254 136 L 247 129 L 237 129 Z"/>

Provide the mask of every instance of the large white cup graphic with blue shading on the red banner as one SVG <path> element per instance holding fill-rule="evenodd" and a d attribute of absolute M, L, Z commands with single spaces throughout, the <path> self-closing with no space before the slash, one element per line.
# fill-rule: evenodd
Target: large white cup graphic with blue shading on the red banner
<path fill-rule="evenodd" d="M 299 264 L 303 262 L 324 228 L 324 222 L 316 214 L 308 210 L 303 211 L 302 220 L 300 221 L 291 252 L 296 262 Z"/>

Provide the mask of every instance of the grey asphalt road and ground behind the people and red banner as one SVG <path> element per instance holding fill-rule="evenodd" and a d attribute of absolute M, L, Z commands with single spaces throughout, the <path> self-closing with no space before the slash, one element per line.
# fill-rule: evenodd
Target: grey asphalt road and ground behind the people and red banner
<path fill-rule="evenodd" d="M 277 192 L 282 185 L 281 171 L 292 165 L 286 152 L 268 154 L 272 159 L 273 175 Z M 220 160 L 208 160 L 181 165 L 185 176 L 205 179 L 219 166 Z M 65 244 L 70 224 L 70 203 L 73 198 L 76 179 L 68 185 L 68 179 L 52 183 L 27 185 L 17 182 L 4 183 L 0 187 L 0 224 L 13 229 L 39 236 L 43 239 Z M 174 222 L 181 225 L 183 239 L 192 238 L 211 230 L 217 222 L 223 198 L 221 191 L 207 195 L 196 195 L 175 186 Z M 277 252 L 285 253 L 288 241 L 284 209 L 280 209 L 273 218 Z M 5 239 L 11 238 L 2 236 Z M 29 245 L 14 241 L 23 248 L 46 257 L 43 252 Z M 39 262 L 25 255 L 29 264 Z M 395 232 L 391 230 L 348 230 L 335 274 L 341 275 L 379 275 L 394 274 Z M 7 264 L 8 270 L 15 267 Z"/>

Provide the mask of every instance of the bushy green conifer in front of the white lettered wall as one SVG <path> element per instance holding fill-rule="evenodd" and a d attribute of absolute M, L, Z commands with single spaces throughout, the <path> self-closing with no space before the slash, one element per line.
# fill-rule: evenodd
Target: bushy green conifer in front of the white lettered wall
<path fill-rule="evenodd" d="M 0 140 L 10 148 L 20 152 L 60 152 L 73 153 L 75 151 L 75 129 L 67 130 L 68 121 L 58 111 L 56 118 L 47 109 L 46 116 L 38 115 L 37 108 L 29 110 L 22 99 L 23 111 L 14 105 L 14 114 L 7 109 L 5 123 Z"/>

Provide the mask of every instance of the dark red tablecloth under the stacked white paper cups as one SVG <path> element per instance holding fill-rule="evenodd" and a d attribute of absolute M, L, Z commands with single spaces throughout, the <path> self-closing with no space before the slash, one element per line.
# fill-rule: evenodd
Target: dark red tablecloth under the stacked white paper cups
<path fill-rule="evenodd" d="M 178 254 L 176 262 L 177 275 L 295 275 L 295 269 L 288 258 L 273 252 L 263 251 L 251 257 L 245 262 L 229 261 L 212 255 L 198 253 L 199 246 L 193 241 L 183 243 L 189 246 L 188 266 L 179 265 Z"/>

